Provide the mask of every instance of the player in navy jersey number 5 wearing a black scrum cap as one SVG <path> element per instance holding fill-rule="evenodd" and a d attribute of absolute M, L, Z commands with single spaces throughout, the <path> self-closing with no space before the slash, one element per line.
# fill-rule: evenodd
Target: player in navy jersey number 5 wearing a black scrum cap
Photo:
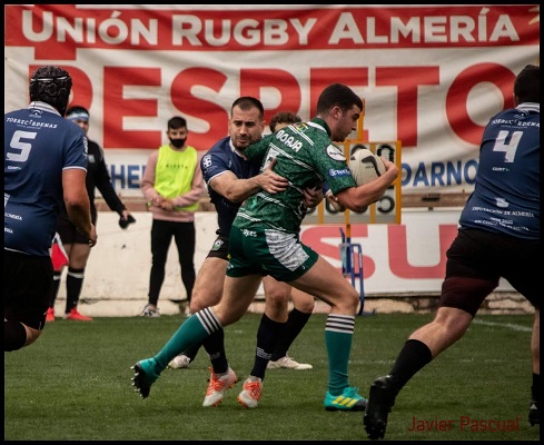
<path fill-rule="evenodd" d="M 87 144 L 63 116 L 72 80 L 52 66 L 30 79 L 30 105 L 4 115 L 3 350 L 38 339 L 53 268 L 49 249 L 65 201 L 89 246 L 97 243 L 85 186 Z"/>

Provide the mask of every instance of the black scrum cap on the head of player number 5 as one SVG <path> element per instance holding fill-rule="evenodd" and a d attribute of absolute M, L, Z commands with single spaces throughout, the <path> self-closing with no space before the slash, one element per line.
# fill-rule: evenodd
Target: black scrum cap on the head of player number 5
<path fill-rule="evenodd" d="M 53 66 L 40 67 L 30 78 L 30 100 L 49 103 L 63 117 L 71 88 L 72 79 L 68 71 Z"/>

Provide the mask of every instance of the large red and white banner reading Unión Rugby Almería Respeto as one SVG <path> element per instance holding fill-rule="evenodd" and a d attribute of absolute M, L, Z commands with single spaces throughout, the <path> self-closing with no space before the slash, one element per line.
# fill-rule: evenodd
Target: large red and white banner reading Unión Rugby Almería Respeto
<path fill-rule="evenodd" d="M 41 65 L 68 69 L 115 186 L 139 194 L 147 155 L 182 115 L 202 154 L 230 106 L 310 119 L 323 88 L 366 103 L 364 138 L 402 142 L 403 190 L 469 191 L 487 120 L 540 57 L 538 6 L 7 6 L 6 111 Z"/>

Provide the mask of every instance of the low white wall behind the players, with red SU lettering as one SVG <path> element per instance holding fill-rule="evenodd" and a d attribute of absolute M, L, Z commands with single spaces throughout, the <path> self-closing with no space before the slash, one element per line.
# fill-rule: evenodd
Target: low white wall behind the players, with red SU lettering
<path fill-rule="evenodd" d="M 91 316 L 136 316 L 147 303 L 151 267 L 151 214 L 135 211 L 137 222 L 127 230 L 118 226 L 118 215 L 99 211 L 98 244 L 86 271 L 80 308 Z M 352 225 L 352 243 L 363 251 L 365 310 L 429 312 L 436 306 L 445 271 L 445 250 L 457 228 L 459 209 L 417 208 L 403 211 L 400 225 Z M 342 273 L 340 233 L 345 225 L 305 225 L 301 239 L 325 256 Z M 196 215 L 197 245 L 195 267 L 198 271 L 211 247 L 217 229 L 215 211 Z M 350 279 L 347 277 L 346 279 Z M 66 273 L 56 309 L 66 303 Z M 360 290 L 360 281 L 355 280 Z M 250 310 L 263 310 L 263 290 Z M 177 250 L 170 246 L 166 278 L 159 298 L 162 314 L 179 314 L 186 299 L 180 279 Z M 530 305 L 502 281 L 483 308 L 492 313 L 527 313 Z M 318 304 L 316 312 L 326 312 Z"/>

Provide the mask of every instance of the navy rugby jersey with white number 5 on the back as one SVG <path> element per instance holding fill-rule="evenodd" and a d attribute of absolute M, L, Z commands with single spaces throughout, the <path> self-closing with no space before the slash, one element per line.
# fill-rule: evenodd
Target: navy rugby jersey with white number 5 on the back
<path fill-rule="evenodd" d="M 4 115 L 4 248 L 49 256 L 63 200 L 62 170 L 87 171 L 87 142 L 76 123 L 48 103 Z"/>

